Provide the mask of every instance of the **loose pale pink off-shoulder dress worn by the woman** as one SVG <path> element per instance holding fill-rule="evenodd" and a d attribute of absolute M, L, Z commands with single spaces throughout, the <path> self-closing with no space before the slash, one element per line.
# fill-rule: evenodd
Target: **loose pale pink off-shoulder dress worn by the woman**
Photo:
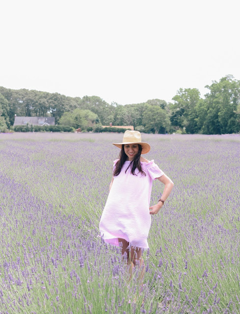
<path fill-rule="evenodd" d="M 113 169 L 117 161 L 118 159 L 114 161 Z M 129 164 L 130 161 L 125 161 L 121 173 L 114 177 L 99 229 L 107 243 L 119 246 L 118 238 L 123 238 L 131 246 L 147 249 L 153 180 L 164 173 L 151 160 L 149 163 L 141 162 L 146 176 L 138 173 L 137 169 L 137 176 L 133 176 L 130 167 L 125 173 Z"/>

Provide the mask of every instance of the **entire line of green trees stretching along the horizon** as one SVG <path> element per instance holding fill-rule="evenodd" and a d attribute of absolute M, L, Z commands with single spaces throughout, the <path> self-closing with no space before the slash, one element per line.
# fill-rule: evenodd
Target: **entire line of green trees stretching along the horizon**
<path fill-rule="evenodd" d="M 110 123 L 152 133 L 226 134 L 240 132 L 240 81 L 225 76 L 206 86 L 180 88 L 172 102 L 107 104 L 98 96 L 67 97 L 36 90 L 0 87 L 0 131 L 12 129 L 14 116 L 52 116 L 63 127 L 99 131 Z"/>

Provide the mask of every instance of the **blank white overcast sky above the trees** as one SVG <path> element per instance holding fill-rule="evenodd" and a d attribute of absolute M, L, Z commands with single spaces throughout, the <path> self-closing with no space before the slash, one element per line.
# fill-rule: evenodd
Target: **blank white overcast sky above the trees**
<path fill-rule="evenodd" d="M 5 0 L 0 86 L 167 102 L 240 79 L 237 0 Z"/>

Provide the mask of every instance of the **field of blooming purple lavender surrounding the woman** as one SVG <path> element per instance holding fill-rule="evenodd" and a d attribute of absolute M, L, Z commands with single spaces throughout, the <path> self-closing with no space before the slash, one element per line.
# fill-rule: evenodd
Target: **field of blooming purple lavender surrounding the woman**
<path fill-rule="evenodd" d="M 141 292 L 98 236 L 122 136 L 0 134 L 0 314 L 240 313 L 240 136 L 143 134 L 175 185 Z"/>

